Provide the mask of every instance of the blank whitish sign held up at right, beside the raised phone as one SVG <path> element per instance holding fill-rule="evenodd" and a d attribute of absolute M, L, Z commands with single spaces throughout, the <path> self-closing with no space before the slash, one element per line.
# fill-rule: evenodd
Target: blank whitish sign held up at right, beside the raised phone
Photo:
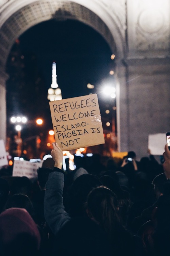
<path fill-rule="evenodd" d="M 148 149 L 150 149 L 151 154 L 161 156 L 165 151 L 166 143 L 165 133 L 149 134 Z"/>

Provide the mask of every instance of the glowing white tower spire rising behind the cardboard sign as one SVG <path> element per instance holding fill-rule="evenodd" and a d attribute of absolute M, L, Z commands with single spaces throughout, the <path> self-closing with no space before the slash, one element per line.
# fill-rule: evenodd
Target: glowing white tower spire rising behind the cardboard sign
<path fill-rule="evenodd" d="M 62 99 L 62 92 L 57 84 L 56 63 L 55 62 L 53 62 L 53 65 L 52 65 L 52 84 L 51 84 L 51 87 L 48 89 L 48 97 L 47 98 L 50 101 Z"/>

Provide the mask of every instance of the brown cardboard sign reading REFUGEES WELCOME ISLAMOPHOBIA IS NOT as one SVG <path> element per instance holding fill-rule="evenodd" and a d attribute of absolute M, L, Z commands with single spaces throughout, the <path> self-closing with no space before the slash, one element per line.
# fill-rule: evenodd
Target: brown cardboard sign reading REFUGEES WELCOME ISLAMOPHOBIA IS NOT
<path fill-rule="evenodd" d="M 55 140 L 63 151 L 104 144 L 97 94 L 49 104 Z"/>

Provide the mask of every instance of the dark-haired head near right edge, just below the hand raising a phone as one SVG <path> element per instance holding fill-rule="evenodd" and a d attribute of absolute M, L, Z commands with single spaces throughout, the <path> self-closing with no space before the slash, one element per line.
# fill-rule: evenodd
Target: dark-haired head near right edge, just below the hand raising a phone
<path fill-rule="evenodd" d="M 161 173 L 153 179 L 152 185 L 154 186 L 154 192 L 157 200 L 159 199 L 160 196 L 163 195 L 164 186 L 166 183 L 167 183 L 167 178 L 165 176 L 165 173 Z"/>

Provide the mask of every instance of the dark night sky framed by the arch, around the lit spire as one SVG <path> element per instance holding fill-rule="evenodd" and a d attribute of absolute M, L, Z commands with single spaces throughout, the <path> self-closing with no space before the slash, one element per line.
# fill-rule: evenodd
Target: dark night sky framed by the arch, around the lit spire
<path fill-rule="evenodd" d="M 23 54 L 30 52 L 37 56 L 47 90 L 55 60 L 63 98 L 98 94 L 97 87 L 109 78 L 113 64 L 111 50 L 98 32 L 83 23 L 50 20 L 30 28 L 19 40 Z M 87 83 L 94 84 L 95 89 L 87 89 Z"/>

